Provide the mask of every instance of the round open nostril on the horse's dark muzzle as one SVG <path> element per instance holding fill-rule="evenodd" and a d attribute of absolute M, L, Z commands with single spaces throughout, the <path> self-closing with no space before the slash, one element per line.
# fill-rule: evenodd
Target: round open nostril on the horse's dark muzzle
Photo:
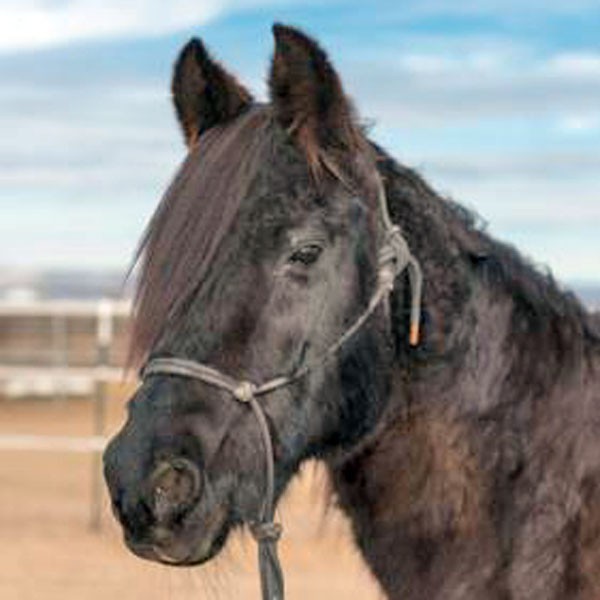
<path fill-rule="evenodd" d="M 160 462 L 150 477 L 152 512 L 164 522 L 185 512 L 200 497 L 202 479 L 196 465 L 186 458 Z"/>

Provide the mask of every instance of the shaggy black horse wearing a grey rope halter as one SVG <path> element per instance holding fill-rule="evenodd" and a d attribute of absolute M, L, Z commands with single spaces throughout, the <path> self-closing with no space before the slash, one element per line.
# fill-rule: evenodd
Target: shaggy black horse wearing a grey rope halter
<path fill-rule="evenodd" d="M 274 35 L 266 105 L 200 41 L 178 59 L 189 153 L 143 239 L 133 360 L 303 373 L 253 398 L 274 495 L 322 460 L 387 597 L 599 598 L 597 320 L 369 142 L 313 40 Z M 382 211 L 423 271 L 417 345 L 406 271 L 371 306 Z M 268 483 L 256 415 L 200 379 L 147 374 L 104 457 L 127 545 L 169 564 L 260 520 Z"/>

